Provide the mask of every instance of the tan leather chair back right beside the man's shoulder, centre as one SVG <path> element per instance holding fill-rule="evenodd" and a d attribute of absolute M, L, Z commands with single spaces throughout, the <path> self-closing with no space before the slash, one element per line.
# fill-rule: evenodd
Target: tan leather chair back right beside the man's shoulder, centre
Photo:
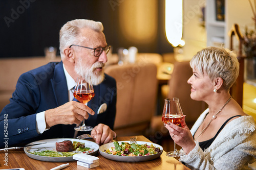
<path fill-rule="evenodd" d="M 117 82 L 115 132 L 118 136 L 144 134 L 156 110 L 156 65 L 110 65 L 105 73 Z"/>

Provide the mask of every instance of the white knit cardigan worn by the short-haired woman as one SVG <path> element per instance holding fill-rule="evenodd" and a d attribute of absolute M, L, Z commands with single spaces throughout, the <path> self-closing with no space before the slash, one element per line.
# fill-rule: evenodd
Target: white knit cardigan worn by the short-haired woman
<path fill-rule="evenodd" d="M 206 109 L 191 128 L 194 135 L 202 124 Z M 229 122 L 210 147 L 203 151 L 198 142 L 189 154 L 180 157 L 190 169 L 250 169 L 248 163 L 256 161 L 256 131 L 252 116 L 241 116 Z"/>

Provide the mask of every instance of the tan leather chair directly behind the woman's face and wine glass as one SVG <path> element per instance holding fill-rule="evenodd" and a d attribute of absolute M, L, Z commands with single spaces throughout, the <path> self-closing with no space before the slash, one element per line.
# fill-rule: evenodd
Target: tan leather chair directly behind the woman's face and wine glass
<path fill-rule="evenodd" d="M 176 62 L 172 77 L 168 81 L 167 88 L 163 91 L 163 93 L 167 94 L 164 98 L 179 98 L 189 128 L 191 128 L 191 125 L 195 123 L 199 115 L 207 108 L 206 103 L 194 101 L 190 98 L 191 85 L 187 83 L 187 80 L 192 74 L 193 71 L 189 66 L 189 61 Z M 168 135 L 168 131 L 163 126 L 161 116 L 158 115 L 152 118 L 151 135 L 156 133 L 162 136 Z"/>

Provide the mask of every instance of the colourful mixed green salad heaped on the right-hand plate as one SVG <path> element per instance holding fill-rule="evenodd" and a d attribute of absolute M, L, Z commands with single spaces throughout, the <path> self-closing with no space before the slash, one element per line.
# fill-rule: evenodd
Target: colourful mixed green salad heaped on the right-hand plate
<path fill-rule="evenodd" d="M 104 150 L 103 152 L 119 156 L 147 156 L 157 154 L 161 152 L 161 150 L 160 148 L 155 147 L 153 144 L 130 144 L 128 142 L 121 142 L 121 144 L 119 144 L 117 141 L 115 141 L 114 147 Z"/>

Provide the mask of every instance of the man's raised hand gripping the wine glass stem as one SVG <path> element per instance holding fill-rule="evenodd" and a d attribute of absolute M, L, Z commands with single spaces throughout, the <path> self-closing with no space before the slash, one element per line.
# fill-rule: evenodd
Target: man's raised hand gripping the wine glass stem
<path fill-rule="evenodd" d="M 94 115 L 94 111 L 88 106 L 71 101 L 55 109 L 45 111 L 46 127 L 50 128 L 58 124 L 79 124 L 83 118 L 88 119 L 88 113 Z"/>

